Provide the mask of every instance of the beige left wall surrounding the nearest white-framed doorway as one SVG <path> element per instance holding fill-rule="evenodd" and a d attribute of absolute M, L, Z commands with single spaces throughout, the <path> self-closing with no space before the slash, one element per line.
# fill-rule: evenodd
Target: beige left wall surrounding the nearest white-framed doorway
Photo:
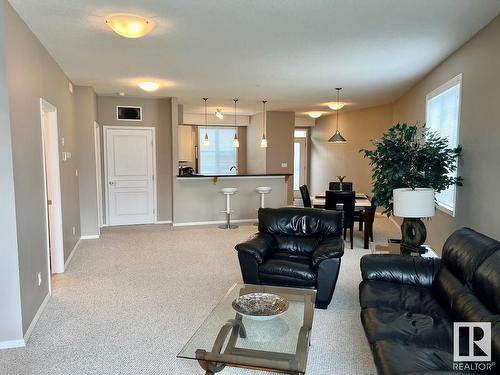
<path fill-rule="evenodd" d="M 12 156 L 17 215 L 23 332 L 49 292 L 40 98 L 57 107 L 60 151 L 72 159 L 60 164 L 64 256 L 80 237 L 77 129 L 69 80 L 26 24 L 3 0 L 5 60 L 10 100 Z M 73 235 L 73 227 L 75 234 Z M 37 274 L 42 274 L 42 284 Z"/>

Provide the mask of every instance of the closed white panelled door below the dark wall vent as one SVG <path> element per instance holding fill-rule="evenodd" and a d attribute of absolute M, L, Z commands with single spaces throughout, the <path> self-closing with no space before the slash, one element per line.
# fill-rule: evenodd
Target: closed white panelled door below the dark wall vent
<path fill-rule="evenodd" d="M 108 225 L 154 223 L 154 130 L 105 127 Z"/>

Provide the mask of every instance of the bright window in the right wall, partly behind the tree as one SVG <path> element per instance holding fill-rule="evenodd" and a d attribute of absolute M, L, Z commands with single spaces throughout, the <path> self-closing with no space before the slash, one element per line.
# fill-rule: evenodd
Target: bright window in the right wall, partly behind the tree
<path fill-rule="evenodd" d="M 460 126 L 460 92 L 462 75 L 458 75 L 427 95 L 426 124 L 429 130 L 448 139 L 451 148 L 458 146 Z M 453 176 L 456 176 L 456 171 Z M 455 216 L 456 186 L 436 194 L 438 208 Z"/>

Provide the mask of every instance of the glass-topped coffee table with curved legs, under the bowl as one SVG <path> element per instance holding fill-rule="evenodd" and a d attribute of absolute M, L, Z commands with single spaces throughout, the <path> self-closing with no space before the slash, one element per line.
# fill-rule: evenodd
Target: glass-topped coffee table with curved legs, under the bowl
<path fill-rule="evenodd" d="M 273 293 L 288 300 L 288 310 L 257 321 L 237 313 L 232 302 L 249 293 Z M 316 291 L 235 284 L 177 355 L 197 360 L 206 375 L 224 367 L 302 375 L 306 372 Z"/>

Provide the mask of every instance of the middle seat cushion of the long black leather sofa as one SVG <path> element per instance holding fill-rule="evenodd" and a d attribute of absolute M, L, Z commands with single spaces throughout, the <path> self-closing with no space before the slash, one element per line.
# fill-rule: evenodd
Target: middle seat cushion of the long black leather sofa
<path fill-rule="evenodd" d="M 453 323 L 446 317 L 367 308 L 361 311 L 361 321 L 370 343 L 391 340 L 404 345 L 452 350 Z"/>

